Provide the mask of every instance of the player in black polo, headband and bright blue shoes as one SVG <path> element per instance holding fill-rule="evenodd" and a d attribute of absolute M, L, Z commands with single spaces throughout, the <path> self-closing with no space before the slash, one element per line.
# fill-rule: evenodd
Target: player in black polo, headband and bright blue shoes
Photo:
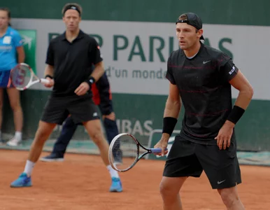
<path fill-rule="evenodd" d="M 110 192 L 122 192 L 118 172 L 108 161 L 108 142 L 101 132 L 101 120 L 90 89 L 104 74 L 104 64 L 97 42 L 79 28 L 81 14 L 82 8 L 77 3 L 67 3 L 62 9 L 66 31 L 50 41 L 45 67 L 45 78 L 50 80 L 45 87 L 53 86 L 52 94 L 45 105 L 24 172 L 11 183 L 11 187 L 31 186 L 31 173 L 45 141 L 55 125 L 62 124 L 71 114 L 73 122 L 83 123 L 90 138 L 98 146 L 111 175 Z M 90 75 L 92 64 L 95 68 Z"/>

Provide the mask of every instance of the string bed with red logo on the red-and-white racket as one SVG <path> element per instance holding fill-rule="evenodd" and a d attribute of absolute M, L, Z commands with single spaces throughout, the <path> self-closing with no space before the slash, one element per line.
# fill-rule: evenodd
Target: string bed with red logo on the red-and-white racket
<path fill-rule="evenodd" d="M 23 88 L 27 86 L 31 80 L 31 71 L 27 66 L 18 65 L 12 69 L 10 78 L 15 87 Z"/>

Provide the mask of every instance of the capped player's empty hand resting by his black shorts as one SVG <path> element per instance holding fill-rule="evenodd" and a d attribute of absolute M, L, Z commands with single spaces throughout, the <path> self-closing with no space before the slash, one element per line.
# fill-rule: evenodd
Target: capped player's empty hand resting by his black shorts
<path fill-rule="evenodd" d="M 218 132 L 218 136 L 215 137 L 215 140 L 217 140 L 217 145 L 222 149 L 226 149 L 227 147 L 231 145 L 231 138 L 232 138 L 232 132 L 234 129 L 234 123 L 227 120 L 224 125 L 220 128 L 220 131 Z"/>

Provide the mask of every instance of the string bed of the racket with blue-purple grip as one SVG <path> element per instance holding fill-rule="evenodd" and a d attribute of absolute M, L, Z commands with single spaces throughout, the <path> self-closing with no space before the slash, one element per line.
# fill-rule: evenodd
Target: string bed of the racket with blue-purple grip
<path fill-rule="evenodd" d="M 138 159 L 138 145 L 128 135 L 119 137 L 112 146 L 113 163 L 119 170 L 126 170 L 132 167 Z"/>

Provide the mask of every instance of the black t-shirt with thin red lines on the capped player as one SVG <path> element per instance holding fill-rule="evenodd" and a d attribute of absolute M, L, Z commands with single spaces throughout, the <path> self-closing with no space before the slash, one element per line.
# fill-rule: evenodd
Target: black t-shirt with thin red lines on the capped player
<path fill-rule="evenodd" d="M 180 132 L 183 139 L 216 144 L 215 137 L 232 111 L 229 80 L 238 70 L 225 53 L 203 43 L 192 59 L 180 49 L 171 53 L 166 78 L 177 85 L 185 108 Z"/>

